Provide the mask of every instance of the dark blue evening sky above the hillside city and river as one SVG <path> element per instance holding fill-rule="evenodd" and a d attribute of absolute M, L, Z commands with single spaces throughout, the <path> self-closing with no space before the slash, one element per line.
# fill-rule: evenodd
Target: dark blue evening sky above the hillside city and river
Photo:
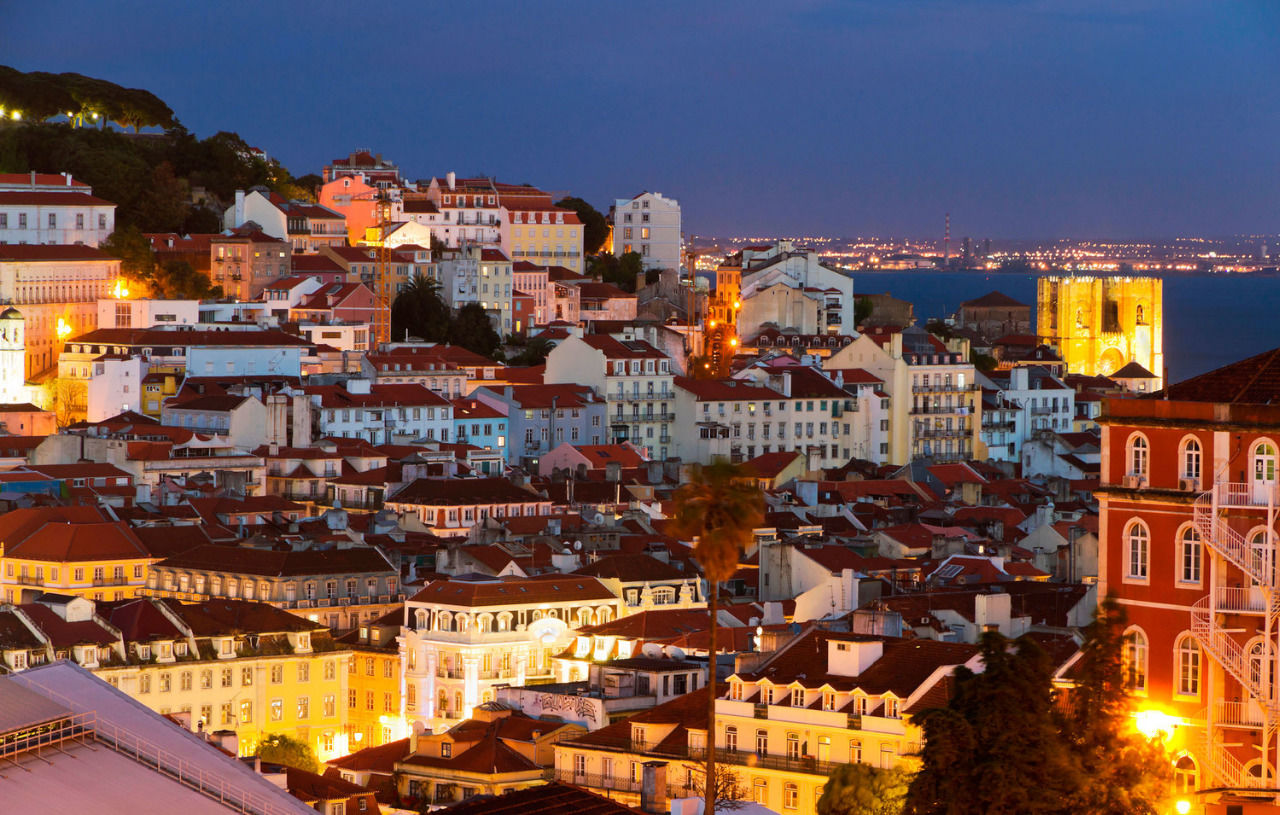
<path fill-rule="evenodd" d="M 483 6 L 483 8 L 480 8 Z M 0 63 L 293 173 L 657 189 L 719 234 L 1280 232 L 1280 3 L 0 1 Z"/>

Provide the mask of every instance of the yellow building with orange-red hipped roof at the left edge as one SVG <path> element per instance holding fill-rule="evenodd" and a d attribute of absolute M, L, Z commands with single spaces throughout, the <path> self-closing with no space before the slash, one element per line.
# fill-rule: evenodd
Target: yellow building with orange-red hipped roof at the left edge
<path fill-rule="evenodd" d="M 127 523 L 109 519 L 97 507 L 35 507 L 0 516 L 5 603 L 44 592 L 127 600 L 146 586 L 156 560 Z"/>

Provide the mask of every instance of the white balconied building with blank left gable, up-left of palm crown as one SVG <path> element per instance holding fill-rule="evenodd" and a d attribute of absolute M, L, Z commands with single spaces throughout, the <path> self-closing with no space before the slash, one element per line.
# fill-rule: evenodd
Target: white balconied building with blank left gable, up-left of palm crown
<path fill-rule="evenodd" d="M 593 388 L 608 403 L 609 441 L 631 441 L 666 459 L 675 441 L 673 376 L 671 360 L 649 343 L 591 334 L 552 349 L 543 381 Z"/>

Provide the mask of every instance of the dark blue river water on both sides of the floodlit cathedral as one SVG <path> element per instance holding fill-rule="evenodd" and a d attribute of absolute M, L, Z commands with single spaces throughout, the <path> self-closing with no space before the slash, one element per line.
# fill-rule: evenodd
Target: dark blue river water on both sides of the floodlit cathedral
<path fill-rule="evenodd" d="M 916 325 L 951 316 L 968 299 L 1000 290 L 1032 306 L 1037 275 L 983 271 L 855 271 L 854 292 L 915 305 Z M 1165 363 L 1181 381 L 1280 345 L 1280 276 L 1165 276 Z"/>

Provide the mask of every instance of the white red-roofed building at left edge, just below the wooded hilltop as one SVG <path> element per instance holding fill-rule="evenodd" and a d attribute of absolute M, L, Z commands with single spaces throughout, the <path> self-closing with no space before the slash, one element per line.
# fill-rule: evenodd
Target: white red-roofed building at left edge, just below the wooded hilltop
<path fill-rule="evenodd" d="M 115 232 L 115 205 L 69 173 L 0 173 L 0 243 L 99 246 Z"/>

